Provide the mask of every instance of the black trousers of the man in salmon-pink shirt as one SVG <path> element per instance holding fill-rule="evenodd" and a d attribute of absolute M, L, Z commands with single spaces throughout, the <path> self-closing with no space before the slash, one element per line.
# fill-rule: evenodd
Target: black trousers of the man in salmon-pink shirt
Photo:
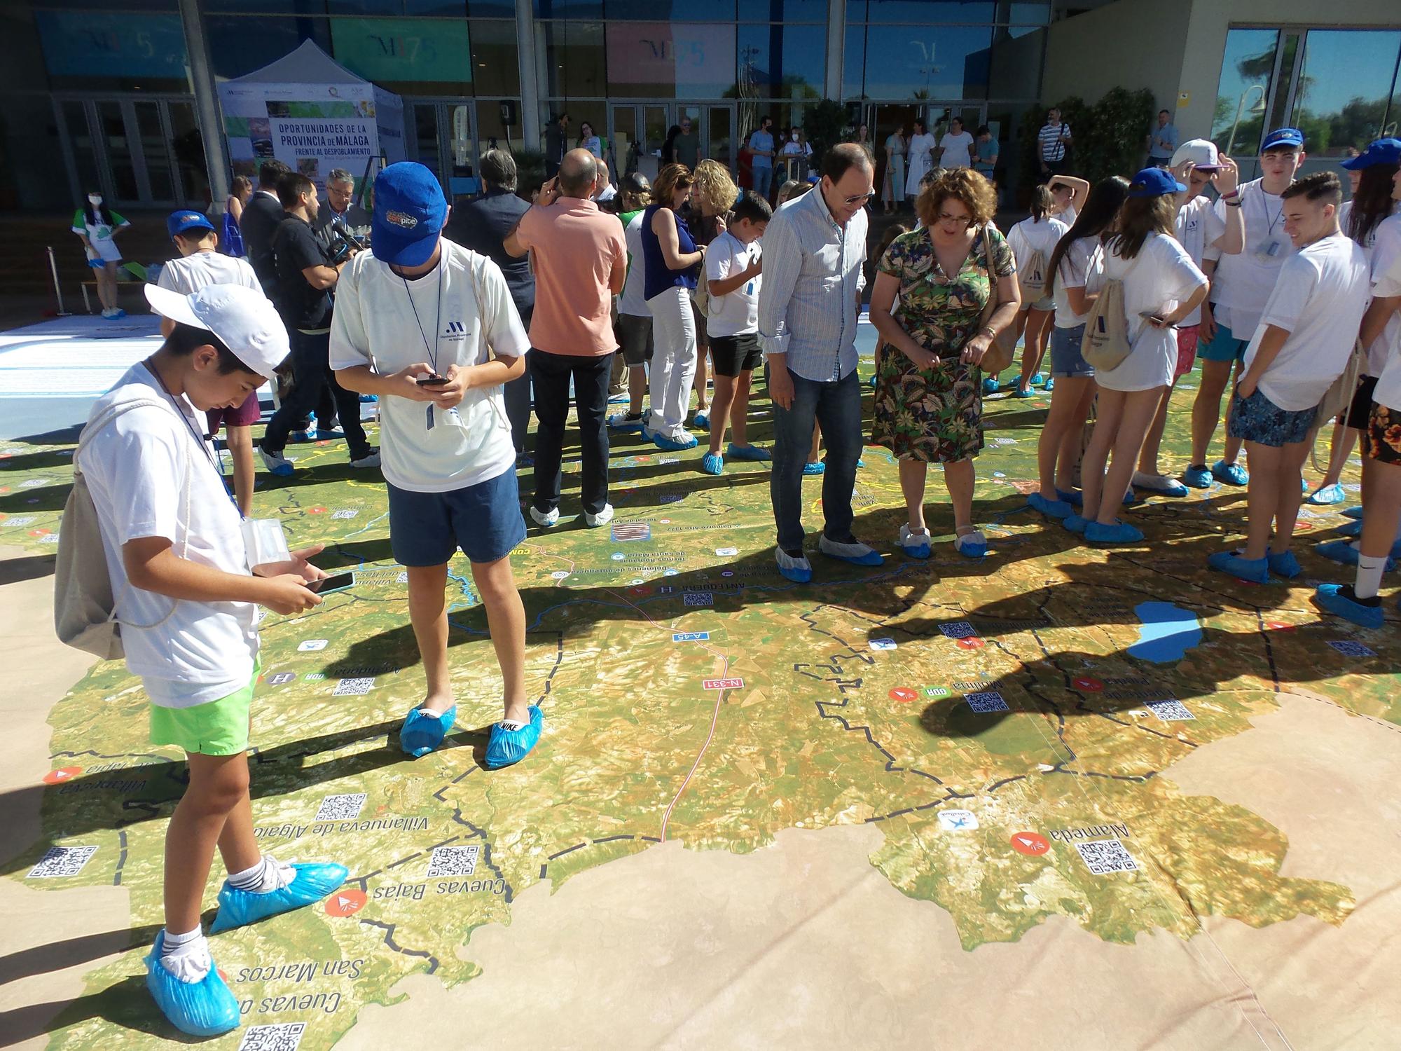
<path fill-rule="evenodd" d="M 559 458 L 569 419 L 569 381 L 574 381 L 583 479 L 579 483 L 584 510 L 598 514 L 608 503 L 608 377 L 612 355 L 552 355 L 531 349 L 531 381 L 535 385 L 535 499 L 541 511 L 559 506 Z"/>

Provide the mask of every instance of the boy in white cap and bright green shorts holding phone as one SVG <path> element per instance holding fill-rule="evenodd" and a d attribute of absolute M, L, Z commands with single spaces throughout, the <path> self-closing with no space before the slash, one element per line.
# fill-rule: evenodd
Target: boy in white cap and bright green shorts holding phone
<path fill-rule="evenodd" d="M 198 415 L 238 405 L 272 377 L 287 356 L 277 311 L 233 284 L 193 296 L 149 284 L 146 297 L 175 327 L 92 406 L 74 462 L 97 510 L 126 666 L 151 701 L 151 744 L 182 748 L 189 764 L 165 834 L 165 926 L 146 985 L 182 1033 L 216 1036 L 240 1020 L 199 918 L 216 846 L 230 874 L 210 933 L 308 905 L 346 877 L 339 865 L 263 856 L 248 795 L 255 607 L 310 610 L 325 573 L 307 562 L 319 545 L 248 565 Z"/>

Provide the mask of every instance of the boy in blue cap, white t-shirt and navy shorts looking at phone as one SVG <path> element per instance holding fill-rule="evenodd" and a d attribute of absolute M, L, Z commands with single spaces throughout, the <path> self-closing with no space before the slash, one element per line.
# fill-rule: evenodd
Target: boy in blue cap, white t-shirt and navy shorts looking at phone
<path fill-rule="evenodd" d="M 413 161 L 374 181 L 373 251 L 336 286 L 331 367 L 380 398 L 389 547 L 408 568 L 409 621 L 427 696 L 399 730 L 409 755 L 437 748 L 457 717 L 447 660 L 447 563 L 461 548 L 486 607 L 504 680 L 486 767 L 518 762 L 544 716 L 525 699 L 525 608 L 510 554 L 525 540 L 516 446 L 502 387 L 525 373 L 530 341 L 500 268 L 441 237 L 448 206 Z"/>

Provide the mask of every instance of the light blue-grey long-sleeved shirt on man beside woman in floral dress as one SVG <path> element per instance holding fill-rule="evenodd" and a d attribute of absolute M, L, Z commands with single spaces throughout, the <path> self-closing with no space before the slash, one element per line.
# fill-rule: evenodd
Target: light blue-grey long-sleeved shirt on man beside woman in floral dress
<path fill-rule="evenodd" d="M 787 355 L 794 376 L 835 383 L 856 369 L 866 228 L 866 209 L 838 226 L 818 185 L 764 233 L 759 341 L 766 355 Z"/>

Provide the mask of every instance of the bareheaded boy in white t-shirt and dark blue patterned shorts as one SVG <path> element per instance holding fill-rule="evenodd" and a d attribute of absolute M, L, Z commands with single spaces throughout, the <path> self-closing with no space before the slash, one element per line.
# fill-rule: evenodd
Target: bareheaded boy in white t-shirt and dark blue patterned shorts
<path fill-rule="evenodd" d="M 1296 252 L 1279 270 L 1231 398 L 1230 433 L 1245 441 L 1251 467 L 1248 540 L 1243 552 L 1219 551 L 1208 562 L 1259 584 L 1271 573 L 1303 572 L 1289 545 L 1314 416 L 1348 366 L 1367 305 L 1367 261 L 1338 228 L 1341 203 L 1342 184 L 1331 171 L 1283 192 L 1285 231 Z"/>

